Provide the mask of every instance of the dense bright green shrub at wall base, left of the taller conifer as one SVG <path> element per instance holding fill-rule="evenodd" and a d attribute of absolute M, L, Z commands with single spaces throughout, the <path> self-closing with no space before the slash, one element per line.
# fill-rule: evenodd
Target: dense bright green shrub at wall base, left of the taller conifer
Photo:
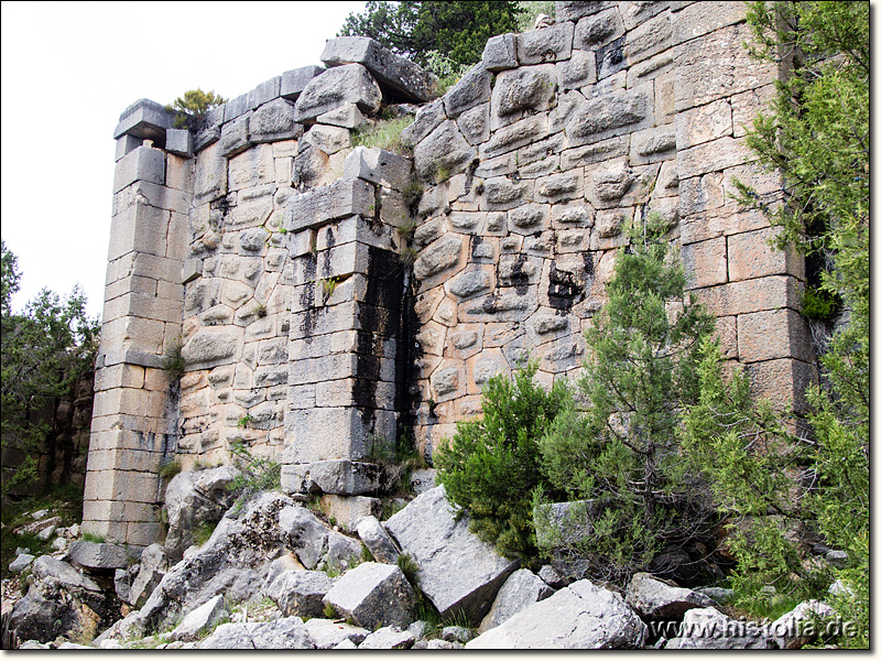
<path fill-rule="evenodd" d="M 435 452 L 438 481 L 468 510 L 471 530 L 499 552 L 537 559 L 532 490 L 542 483 L 537 441 L 570 402 L 563 381 L 551 391 L 533 382 L 537 364 L 496 376 L 483 387 L 483 416 L 459 422 L 453 442 Z"/>

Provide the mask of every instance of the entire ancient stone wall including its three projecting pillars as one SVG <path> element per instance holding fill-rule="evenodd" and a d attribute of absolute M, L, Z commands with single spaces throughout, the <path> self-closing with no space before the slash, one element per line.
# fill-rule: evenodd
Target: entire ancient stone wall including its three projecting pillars
<path fill-rule="evenodd" d="M 370 40 L 175 129 L 142 100 L 118 163 L 87 530 L 160 534 L 160 465 L 283 464 L 289 491 L 366 507 L 370 458 L 412 433 L 431 458 L 480 388 L 525 359 L 577 373 L 630 219 L 657 214 L 728 358 L 803 405 L 803 260 L 731 199 L 779 177 L 744 130 L 777 66 L 751 61 L 735 2 L 557 2 L 443 98 Z M 354 131 L 415 113 L 412 159 Z M 421 196 L 417 193 L 421 192 Z M 185 371 L 170 378 L 180 347 Z M 366 499 L 369 501 L 369 499 Z"/>

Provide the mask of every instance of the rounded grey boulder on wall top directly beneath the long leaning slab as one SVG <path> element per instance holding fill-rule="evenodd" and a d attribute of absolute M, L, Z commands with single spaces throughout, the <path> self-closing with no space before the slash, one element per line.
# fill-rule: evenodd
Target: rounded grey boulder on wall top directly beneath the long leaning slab
<path fill-rule="evenodd" d="M 382 91 L 360 64 L 347 64 L 323 72 L 306 84 L 294 107 L 298 122 L 309 122 L 344 104 L 356 104 L 365 115 L 374 115 Z"/>

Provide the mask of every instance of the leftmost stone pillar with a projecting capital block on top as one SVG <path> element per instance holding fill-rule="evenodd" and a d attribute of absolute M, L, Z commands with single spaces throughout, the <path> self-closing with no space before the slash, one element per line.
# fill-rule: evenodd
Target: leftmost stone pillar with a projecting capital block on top
<path fill-rule="evenodd" d="M 171 123 L 156 106 L 139 101 L 117 128 L 83 516 L 85 531 L 137 546 L 161 534 L 159 468 L 176 446 L 176 383 L 163 369 L 163 357 L 181 338 L 181 269 L 192 197 L 191 162 L 152 147 L 153 140 L 164 144 Z"/>

